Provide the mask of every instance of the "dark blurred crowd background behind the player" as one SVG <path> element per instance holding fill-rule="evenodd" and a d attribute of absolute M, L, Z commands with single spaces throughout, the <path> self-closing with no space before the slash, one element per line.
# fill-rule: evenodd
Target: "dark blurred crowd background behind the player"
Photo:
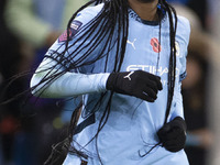
<path fill-rule="evenodd" d="M 0 1 L 0 101 L 29 87 L 31 74 L 89 0 Z M 167 0 L 188 18 L 191 36 L 187 78 L 183 81 L 190 165 L 220 164 L 220 1 Z M 10 82 L 14 75 L 25 75 Z M 10 88 L 7 88 L 10 82 Z M 73 105 L 22 95 L 0 106 L 0 164 L 41 165 L 52 145 L 67 133 Z M 73 103 L 73 102 L 72 102 Z"/>

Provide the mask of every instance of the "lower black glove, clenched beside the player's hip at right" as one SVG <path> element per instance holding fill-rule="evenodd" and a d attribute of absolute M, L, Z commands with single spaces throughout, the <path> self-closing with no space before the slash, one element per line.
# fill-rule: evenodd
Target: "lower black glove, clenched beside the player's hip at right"
<path fill-rule="evenodd" d="M 176 117 L 166 123 L 157 132 L 162 145 L 170 152 L 178 152 L 185 146 L 186 122 L 183 118 Z"/>

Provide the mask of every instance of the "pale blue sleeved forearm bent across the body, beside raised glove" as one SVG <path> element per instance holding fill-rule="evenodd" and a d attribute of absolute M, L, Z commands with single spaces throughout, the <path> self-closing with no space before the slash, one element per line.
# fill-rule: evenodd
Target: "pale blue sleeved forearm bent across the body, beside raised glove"
<path fill-rule="evenodd" d="M 31 80 L 32 94 L 43 98 L 65 98 L 79 96 L 92 92 L 102 92 L 106 90 L 106 81 L 109 77 L 108 73 L 102 74 L 79 74 L 79 73 L 65 73 L 57 79 L 42 81 L 56 72 L 57 69 L 46 69 L 40 66 Z"/>

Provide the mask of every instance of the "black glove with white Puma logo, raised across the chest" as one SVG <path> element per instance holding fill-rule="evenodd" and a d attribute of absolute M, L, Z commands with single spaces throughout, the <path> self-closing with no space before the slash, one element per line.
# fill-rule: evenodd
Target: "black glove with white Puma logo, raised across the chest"
<path fill-rule="evenodd" d="M 112 73 L 107 80 L 107 89 L 119 94 L 154 102 L 158 90 L 162 90 L 158 76 L 143 70 Z"/>

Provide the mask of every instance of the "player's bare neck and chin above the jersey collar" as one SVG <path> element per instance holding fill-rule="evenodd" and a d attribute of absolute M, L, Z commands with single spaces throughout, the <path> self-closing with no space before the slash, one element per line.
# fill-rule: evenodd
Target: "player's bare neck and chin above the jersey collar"
<path fill-rule="evenodd" d="M 158 0 L 153 2 L 141 2 L 140 0 L 129 0 L 130 7 L 138 13 L 142 20 L 158 21 L 157 4 Z"/>

